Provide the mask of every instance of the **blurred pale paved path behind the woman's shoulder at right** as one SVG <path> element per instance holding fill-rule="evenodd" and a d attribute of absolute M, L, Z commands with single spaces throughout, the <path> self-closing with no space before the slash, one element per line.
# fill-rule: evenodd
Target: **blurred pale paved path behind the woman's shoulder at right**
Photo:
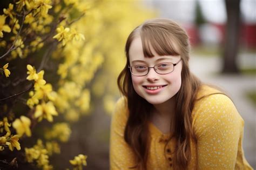
<path fill-rule="evenodd" d="M 241 56 L 242 67 L 256 67 L 256 57 Z M 241 117 L 245 121 L 243 148 L 245 157 L 250 165 L 256 169 L 256 106 L 248 100 L 246 93 L 256 90 L 256 76 L 254 75 L 219 75 L 221 58 L 191 57 L 191 71 L 204 83 L 213 84 L 223 89 L 232 98 Z"/>

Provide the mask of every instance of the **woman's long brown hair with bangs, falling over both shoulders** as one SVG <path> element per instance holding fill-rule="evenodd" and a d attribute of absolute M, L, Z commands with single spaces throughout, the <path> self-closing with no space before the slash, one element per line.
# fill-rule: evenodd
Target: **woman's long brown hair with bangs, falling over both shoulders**
<path fill-rule="evenodd" d="M 189 69 L 190 43 L 186 32 L 170 19 L 151 19 L 134 29 L 125 45 L 126 65 L 118 76 L 120 92 L 127 98 L 129 117 L 126 123 L 124 139 L 136 155 L 138 169 L 146 169 L 149 150 L 148 121 L 153 105 L 140 97 L 133 89 L 129 66 L 129 49 L 134 38 L 142 39 L 144 57 L 153 57 L 152 47 L 159 56 L 180 56 L 182 60 L 181 87 L 176 94 L 176 112 L 170 131 L 177 139 L 174 149 L 174 169 L 185 169 L 191 158 L 190 139 L 194 139 L 191 112 L 196 94 L 201 86 L 200 80 Z M 170 113 L 171 114 L 171 113 Z M 171 140 L 171 137 L 169 141 Z M 166 144 L 167 145 L 167 144 Z M 163 151 L 164 152 L 164 151 Z M 134 168 L 133 167 L 133 168 Z"/>

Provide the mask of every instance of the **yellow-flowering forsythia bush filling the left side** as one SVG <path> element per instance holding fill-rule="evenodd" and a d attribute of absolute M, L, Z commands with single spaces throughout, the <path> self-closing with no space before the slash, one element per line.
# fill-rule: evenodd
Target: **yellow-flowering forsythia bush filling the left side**
<path fill-rule="evenodd" d="M 92 95 L 112 111 L 125 39 L 153 16 L 137 3 L 0 2 L 0 169 L 53 169 L 49 158 L 90 112 Z M 86 158 L 70 166 L 83 169 Z"/>

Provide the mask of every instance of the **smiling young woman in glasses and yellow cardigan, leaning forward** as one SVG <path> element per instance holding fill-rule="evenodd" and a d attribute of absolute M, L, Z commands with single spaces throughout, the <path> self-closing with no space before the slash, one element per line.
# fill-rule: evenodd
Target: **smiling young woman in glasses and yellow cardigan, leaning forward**
<path fill-rule="evenodd" d="M 242 149 L 244 120 L 230 98 L 190 72 L 190 43 L 178 24 L 146 21 L 125 52 L 110 169 L 252 169 Z"/>

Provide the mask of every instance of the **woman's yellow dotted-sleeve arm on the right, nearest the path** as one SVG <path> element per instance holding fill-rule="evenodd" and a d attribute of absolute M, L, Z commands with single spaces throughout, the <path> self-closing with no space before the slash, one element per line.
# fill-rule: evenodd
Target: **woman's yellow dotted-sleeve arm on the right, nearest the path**
<path fill-rule="evenodd" d="M 198 169 L 234 169 L 244 120 L 224 94 L 201 100 L 193 122 Z"/>

